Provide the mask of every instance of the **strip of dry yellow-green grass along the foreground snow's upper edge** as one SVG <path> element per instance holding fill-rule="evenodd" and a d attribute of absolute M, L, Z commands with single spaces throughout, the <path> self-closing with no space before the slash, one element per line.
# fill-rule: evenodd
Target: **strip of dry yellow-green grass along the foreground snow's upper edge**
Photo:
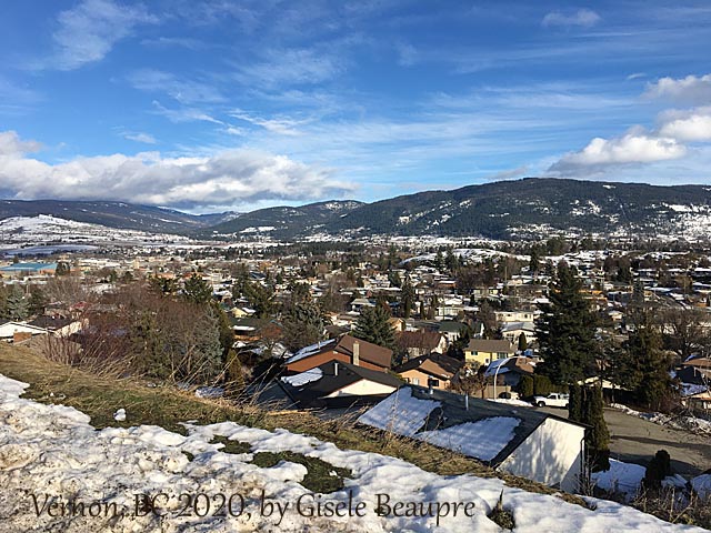
<path fill-rule="evenodd" d="M 481 477 L 499 477 L 512 487 L 560 494 L 540 483 L 497 472 L 479 461 L 448 450 L 405 438 L 384 438 L 377 430 L 357 425 L 353 418 L 323 421 L 308 412 L 268 411 L 253 402 L 234 404 L 224 400 L 202 400 L 170 386 L 150 388 L 139 381 L 94 375 L 48 361 L 22 346 L 0 345 L 0 374 L 30 383 L 26 398 L 46 403 L 62 403 L 87 413 L 97 429 L 153 424 L 184 434 L 181 422 L 187 421 L 200 424 L 233 421 L 266 430 L 283 428 L 332 442 L 341 449 L 400 457 L 441 475 L 469 473 Z M 113 420 L 113 413 L 120 408 L 127 411 L 124 422 Z M 572 494 L 563 493 L 560 497 L 585 505 L 581 497 Z"/>

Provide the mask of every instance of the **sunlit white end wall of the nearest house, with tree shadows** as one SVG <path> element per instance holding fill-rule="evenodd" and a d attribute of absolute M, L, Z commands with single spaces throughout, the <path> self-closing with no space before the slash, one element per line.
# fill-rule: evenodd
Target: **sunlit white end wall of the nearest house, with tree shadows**
<path fill-rule="evenodd" d="M 545 485 L 578 491 L 582 466 L 584 428 L 562 420 L 545 419 L 500 465 L 498 470 Z"/>

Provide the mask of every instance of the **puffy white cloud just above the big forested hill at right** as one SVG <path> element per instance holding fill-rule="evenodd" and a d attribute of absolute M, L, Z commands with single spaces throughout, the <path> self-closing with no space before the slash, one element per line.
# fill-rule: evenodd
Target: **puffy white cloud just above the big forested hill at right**
<path fill-rule="evenodd" d="M 601 167 L 651 163 L 681 158 L 687 153 L 683 144 L 674 139 L 654 137 L 643 131 L 630 131 L 613 138 L 595 138 L 579 152 L 572 152 L 549 170 L 557 173 L 595 171 Z"/>

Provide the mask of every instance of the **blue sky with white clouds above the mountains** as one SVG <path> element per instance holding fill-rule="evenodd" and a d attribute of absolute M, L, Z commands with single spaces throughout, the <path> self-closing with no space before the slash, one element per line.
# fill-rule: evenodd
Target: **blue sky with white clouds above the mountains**
<path fill-rule="evenodd" d="M 711 3 L 24 0 L 0 197 L 192 212 L 527 175 L 711 184 Z"/>

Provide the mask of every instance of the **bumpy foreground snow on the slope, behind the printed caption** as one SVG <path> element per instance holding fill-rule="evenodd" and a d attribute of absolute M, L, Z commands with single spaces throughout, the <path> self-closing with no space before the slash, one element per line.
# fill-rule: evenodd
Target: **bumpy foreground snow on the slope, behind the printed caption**
<path fill-rule="evenodd" d="M 0 375 L 2 532 L 493 533 L 501 530 L 487 513 L 502 489 L 517 532 L 703 531 L 613 502 L 589 499 L 593 511 L 507 487 L 498 479 L 435 475 L 398 459 L 339 450 L 286 430 L 223 422 L 186 424 L 188 436 L 148 425 L 96 431 L 89 418 L 74 409 L 20 399 L 23 388 Z M 220 452 L 221 444 L 210 443 L 214 435 L 249 443 L 251 452 L 292 451 L 319 457 L 351 469 L 352 480 L 337 493 L 313 494 L 299 484 L 307 473 L 303 465 L 282 461 L 273 467 L 256 466 L 250 463 L 252 453 Z M 150 495 L 153 511 L 137 505 L 142 499 L 136 494 Z M 352 516 L 348 516 L 349 496 Z M 404 516 L 412 505 L 395 507 L 397 502 L 424 502 L 425 516 Z M 454 515 L 453 503 L 459 502 L 472 505 L 458 506 Z M 347 515 L 332 516 L 339 503 Z"/>

